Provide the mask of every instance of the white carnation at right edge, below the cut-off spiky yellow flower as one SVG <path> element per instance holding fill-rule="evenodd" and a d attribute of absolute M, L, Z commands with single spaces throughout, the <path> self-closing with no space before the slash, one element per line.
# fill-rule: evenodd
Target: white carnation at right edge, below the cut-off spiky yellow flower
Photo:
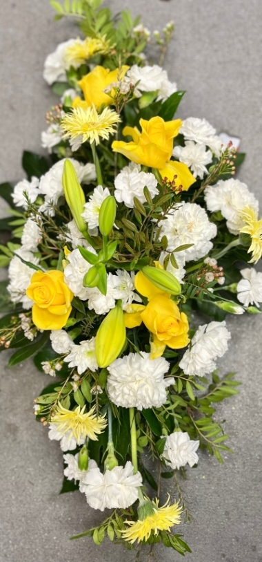
<path fill-rule="evenodd" d="M 237 298 L 244 306 L 262 303 L 262 273 L 254 268 L 241 270 L 243 279 L 237 284 Z"/>

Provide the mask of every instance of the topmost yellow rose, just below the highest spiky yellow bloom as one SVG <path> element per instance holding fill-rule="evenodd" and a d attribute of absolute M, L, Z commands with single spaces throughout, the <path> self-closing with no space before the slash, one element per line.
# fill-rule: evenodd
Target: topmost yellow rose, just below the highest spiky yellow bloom
<path fill-rule="evenodd" d="M 76 97 L 72 102 L 72 106 L 87 109 L 93 105 L 99 108 L 101 105 L 108 106 L 112 104 L 111 95 L 114 97 L 114 90 L 110 92 L 110 95 L 105 94 L 103 90 L 110 86 L 112 82 L 123 80 L 128 68 L 129 66 L 124 65 L 121 69 L 116 68 L 114 71 L 110 71 L 109 68 L 95 66 L 94 70 L 79 80 L 79 86 L 83 91 L 85 100 L 81 100 L 81 97 Z"/>

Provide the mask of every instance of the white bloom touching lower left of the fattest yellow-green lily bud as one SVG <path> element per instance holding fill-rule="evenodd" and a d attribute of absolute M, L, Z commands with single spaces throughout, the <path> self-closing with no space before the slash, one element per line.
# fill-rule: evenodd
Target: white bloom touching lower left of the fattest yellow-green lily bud
<path fill-rule="evenodd" d="M 87 369 L 97 371 L 98 364 L 95 354 L 95 337 L 89 340 L 80 341 L 80 345 L 72 344 L 69 355 L 64 361 L 70 368 L 77 367 L 77 373 L 82 375 Z"/>

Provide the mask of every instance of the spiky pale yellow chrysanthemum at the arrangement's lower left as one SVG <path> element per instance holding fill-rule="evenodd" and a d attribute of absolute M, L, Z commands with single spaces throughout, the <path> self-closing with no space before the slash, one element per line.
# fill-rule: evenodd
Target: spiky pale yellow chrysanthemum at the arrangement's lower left
<path fill-rule="evenodd" d="M 61 433 L 71 431 L 70 437 L 74 437 L 78 443 L 81 438 L 85 437 L 97 441 L 97 434 L 105 429 L 107 422 L 104 416 L 101 418 L 94 414 L 95 406 L 87 413 L 84 413 L 84 411 L 85 406 L 82 409 L 77 406 L 72 411 L 64 408 L 59 402 L 52 423 L 57 424 L 57 430 Z"/>

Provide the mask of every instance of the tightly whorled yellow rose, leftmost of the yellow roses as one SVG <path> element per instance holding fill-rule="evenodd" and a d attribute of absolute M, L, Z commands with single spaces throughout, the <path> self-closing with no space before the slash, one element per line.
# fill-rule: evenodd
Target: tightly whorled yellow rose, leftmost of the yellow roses
<path fill-rule="evenodd" d="M 63 272 L 35 272 L 26 294 L 34 301 L 32 321 L 39 330 L 61 330 L 65 326 L 74 295 L 63 282 Z"/>

